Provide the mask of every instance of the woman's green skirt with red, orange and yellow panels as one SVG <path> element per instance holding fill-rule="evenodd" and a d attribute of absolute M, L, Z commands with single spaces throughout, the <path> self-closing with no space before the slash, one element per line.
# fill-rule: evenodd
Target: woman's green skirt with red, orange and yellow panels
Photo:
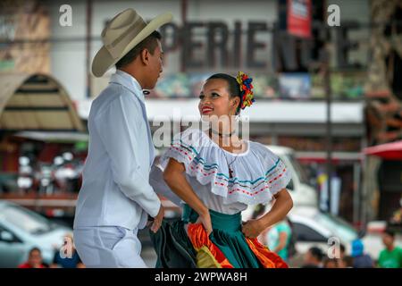
<path fill-rule="evenodd" d="M 208 236 L 188 205 L 182 219 L 163 222 L 159 231 L 150 231 L 158 256 L 156 267 L 198 268 L 288 268 L 277 254 L 241 231 L 241 213 L 221 214 L 210 210 L 213 232 Z M 188 223 L 188 234 L 184 230 Z"/>

